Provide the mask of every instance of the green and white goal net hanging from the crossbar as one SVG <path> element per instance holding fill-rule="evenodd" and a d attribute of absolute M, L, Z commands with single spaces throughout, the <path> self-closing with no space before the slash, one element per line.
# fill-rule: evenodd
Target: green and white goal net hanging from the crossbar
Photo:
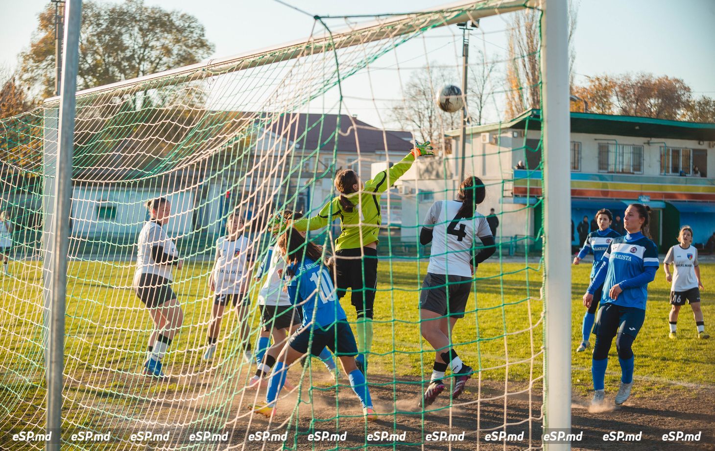
<path fill-rule="evenodd" d="M 95 449 L 94 440 L 104 440 L 97 435 L 108 435 L 107 449 L 400 449 L 430 441 L 476 449 L 488 432 L 523 432 L 524 446 L 541 447 L 540 19 L 541 11 L 522 1 L 492 0 L 400 16 L 323 17 L 302 42 L 79 92 L 62 393 L 61 440 L 68 449 Z M 461 88 L 463 78 L 465 119 L 462 110 L 435 105 L 441 87 Z M 58 111 L 59 100 L 50 99 L 0 121 L 0 227 L 12 242 L 0 274 L 5 437 L 41 432 L 45 422 L 43 262 L 53 238 Z M 360 388 L 340 375 L 340 355 L 332 357 L 332 371 L 317 357 L 295 360 L 275 415 L 255 412 L 251 406 L 267 404 L 265 384 L 250 387 L 256 357 L 280 335 L 265 338 L 264 316 L 277 318 L 259 301 L 271 266 L 265 262 L 279 252 L 271 218 L 285 210 L 315 217 L 339 194 L 337 171 L 352 169 L 368 182 L 398 168 L 425 141 L 435 155 L 418 157 L 371 205 L 379 208 L 380 224 L 369 349 L 368 321 L 350 299 L 372 287 L 348 289 L 340 299 L 369 362 L 378 420 L 365 421 Z M 455 218 L 426 218 L 433 204 L 453 203 L 469 176 L 485 186 L 475 211 L 488 217 L 485 230 L 495 243 L 486 245 L 473 231 L 464 249 L 435 248 L 436 241 L 423 246 L 425 225 L 435 234 L 448 230 L 441 242 L 466 236 L 464 222 L 460 228 Z M 162 379 L 142 374 L 147 356 L 157 355 L 147 346 L 155 347 L 157 335 L 171 328 L 166 321 L 177 318 L 154 321 L 134 277 L 140 231 L 152 219 L 146 203 L 156 198 L 169 201 L 162 230 L 183 262 L 171 269 L 182 321 L 163 346 Z M 211 336 L 217 301 L 209 279 L 217 241 L 224 246 L 220 238 L 233 218 L 245 238 L 235 255 L 245 258 L 240 291 L 250 302 L 237 314 L 228 299 Z M 336 215 L 302 240 L 330 256 L 344 228 Z M 449 266 L 460 251 L 487 248 L 495 252 L 469 278 L 463 316 L 458 306 L 445 307 L 425 321 L 420 299 L 428 298 L 430 256 L 443 256 Z M 358 253 L 365 260 L 359 245 Z M 463 288 L 455 280 L 441 282 L 449 293 L 443 301 L 459 297 Z M 449 321 L 451 331 L 426 324 Z M 453 349 L 474 372 L 455 398 L 455 369 L 448 367 L 444 392 L 424 405 L 436 367 L 435 346 L 423 333 L 435 330 L 449 340 L 439 351 Z M 282 333 L 278 344 L 286 343 Z M 215 354 L 204 359 L 212 343 Z M 94 438 L 71 437 L 78 432 Z M 506 437 L 495 440 L 506 445 Z"/>

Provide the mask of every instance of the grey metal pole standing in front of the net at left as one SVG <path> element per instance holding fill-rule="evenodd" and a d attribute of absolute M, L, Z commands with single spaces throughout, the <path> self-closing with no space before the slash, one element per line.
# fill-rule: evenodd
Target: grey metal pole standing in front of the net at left
<path fill-rule="evenodd" d="M 77 92 L 79 59 L 79 26 L 82 0 L 68 0 L 64 8 L 64 64 L 62 66 L 59 134 L 54 184 L 54 229 L 51 252 L 49 341 L 47 346 L 47 451 L 59 451 L 62 425 L 62 370 L 64 368 L 64 311 L 67 288 L 67 251 L 69 249 L 69 215 L 71 213 L 72 152 L 74 140 L 74 107 Z M 44 276 L 48 276 L 45 274 Z"/>

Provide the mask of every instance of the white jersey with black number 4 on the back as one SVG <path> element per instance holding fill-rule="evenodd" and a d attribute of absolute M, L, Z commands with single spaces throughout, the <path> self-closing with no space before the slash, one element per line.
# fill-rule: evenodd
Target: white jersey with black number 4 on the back
<path fill-rule="evenodd" d="M 491 236 L 487 219 L 480 213 L 473 218 L 458 217 L 459 200 L 435 202 L 425 218 L 425 228 L 433 228 L 428 273 L 471 277 L 474 237 Z"/>

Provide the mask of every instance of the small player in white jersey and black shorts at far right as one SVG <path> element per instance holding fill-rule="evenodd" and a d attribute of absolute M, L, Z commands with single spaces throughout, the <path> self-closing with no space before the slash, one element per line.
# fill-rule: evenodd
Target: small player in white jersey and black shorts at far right
<path fill-rule="evenodd" d="M 698 266 L 698 250 L 692 246 L 693 229 L 690 226 L 683 226 L 678 234 L 678 241 L 671 247 L 663 261 L 663 268 L 666 272 L 666 280 L 671 282 L 671 311 L 670 338 L 676 338 L 676 326 L 678 324 L 678 314 L 681 306 L 686 301 L 693 309 L 695 325 L 698 328 L 699 339 L 709 339 L 705 332 L 705 320 L 703 311 L 700 309 L 700 290 L 703 283 L 700 280 L 700 266 Z M 671 265 L 674 266 L 674 273 L 671 274 Z"/>

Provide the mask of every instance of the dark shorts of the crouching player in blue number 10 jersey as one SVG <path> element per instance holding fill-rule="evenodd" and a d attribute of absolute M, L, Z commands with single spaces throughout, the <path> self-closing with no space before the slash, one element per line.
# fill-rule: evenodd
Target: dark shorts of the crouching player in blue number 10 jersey
<path fill-rule="evenodd" d="M 295 334 L 292 334 L 288 341 L 290 347 L 301 354 L 305 354 L 308 350 L 310 332 L 309 327 L 301 327 L 295 331 Z M 344 320 L 337 321 L 327 330 L 320 329 L 319 326 L 312 329 L 310 354 L 314 356 L 320 355 L 325 346 L 338 357 L 358 355 L 358 344 L 355 343 L 355 335 L 352 334 L 352 329 Z"/>

